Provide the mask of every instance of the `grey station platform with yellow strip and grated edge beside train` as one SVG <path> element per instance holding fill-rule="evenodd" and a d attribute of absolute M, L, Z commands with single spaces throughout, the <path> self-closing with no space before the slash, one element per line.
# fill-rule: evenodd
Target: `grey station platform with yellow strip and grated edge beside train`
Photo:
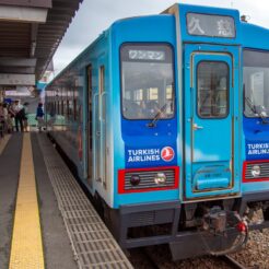
<path fill-rule="evenodd" d="M 46 133 L 0 143 L 0 268 L 132 268 Z"/>

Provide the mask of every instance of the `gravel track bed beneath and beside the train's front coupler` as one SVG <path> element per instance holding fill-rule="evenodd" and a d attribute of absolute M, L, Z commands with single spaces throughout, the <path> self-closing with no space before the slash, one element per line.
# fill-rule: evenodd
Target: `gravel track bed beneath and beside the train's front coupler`
<path fill-rule="evenodd" d="M 151 246 L 132 249 L 130 252 L 130 261 L 136 269 L 151 269 L 151 262 L 147 261 L 144 254 L 147 252 L 151 259 L 155 261 L 160 269 L 226 269 L 231 268 L 218 257 L 199 257 L 182 261 L 172 261 L 168 246 Z M 230 255 L 239 264 L 249 269 L 269 269 L 269 229 L 253 231 L 249 233 L 249 241 L 244 249 Z M 156 268 L 156 267 L 155 267 Z"/>

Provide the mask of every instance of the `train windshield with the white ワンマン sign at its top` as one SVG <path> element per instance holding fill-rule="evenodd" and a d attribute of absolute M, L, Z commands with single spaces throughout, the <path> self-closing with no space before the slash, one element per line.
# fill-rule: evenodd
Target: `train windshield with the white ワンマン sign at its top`
<path fill-rule="evenodd" d="M 168 45 L 124 45 L 121 104 L 127 119 L 174 116 L 173 50 Z"/>

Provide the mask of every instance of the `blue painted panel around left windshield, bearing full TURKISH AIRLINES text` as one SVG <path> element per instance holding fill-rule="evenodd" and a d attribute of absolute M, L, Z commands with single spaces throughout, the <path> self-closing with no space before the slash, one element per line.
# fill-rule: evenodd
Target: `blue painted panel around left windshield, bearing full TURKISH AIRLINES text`
<path fill-rule="evenodd" d="M 130 28 L 132 30 L 130 32 Z M 156 128 L 149 128 L 149 120 L 130 120 L 125 119 L 120 115 L 120 56 L 119 48 L 122 44 L 136 43 L 162 43 L 167 44 L 173 49 L 174 55 L 175 39 L 175 20 L 172 15 L 148 16 L 131 20 L 124 20 L 113 25 L 113 54 L 115 62 L 114 89 L 118 91 L 114 93 L 115 118 L 120 119 L 118 126 L 114 129 L 114 202 L 115 207 L 119 204 L 133 203 L 133 201 L 149 202 L 162 200 L 179 199 L 178 189 L 162 190 L 154 195 L 147 194 L 118 194 L 117 177 L 118 171 L 124 168 L 144 168 L 173 165 L 180 163 L 180 152 L 177 150 L 177 138 L 179 128 L 177 125 L 177 112 L 174 117 L 166 120 L 160 120 Z M 174 65 L 174 69 L 176 65 Z M 176 70 L 174 70 L 176 73 Z M 115 122 L 116 124 L 116 122 Z M 131 126 L 131 128 L 130 128 Z M 114 126 L 115 127 L 115 126 Z M 119 139 L 121 138 L 121 139 Z M 174 157 L 169 162 L 162 160 L 161 152 L 165 147 L 171 147 L 174 150 Z"/>

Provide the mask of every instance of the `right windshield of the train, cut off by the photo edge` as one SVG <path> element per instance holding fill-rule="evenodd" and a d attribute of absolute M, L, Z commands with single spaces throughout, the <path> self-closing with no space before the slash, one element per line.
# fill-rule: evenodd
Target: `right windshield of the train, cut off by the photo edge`
<path fill-rule="evenodd" d="M 269 52 L 244 50 L 246 117 L 269 117 Z"/>

